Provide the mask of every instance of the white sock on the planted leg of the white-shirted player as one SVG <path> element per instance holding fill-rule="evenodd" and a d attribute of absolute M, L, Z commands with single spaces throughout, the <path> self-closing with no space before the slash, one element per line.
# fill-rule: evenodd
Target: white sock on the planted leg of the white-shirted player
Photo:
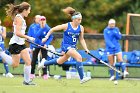
<path fill-rule="evenodd" d="M 25 82 L 30 81 L 30 73 L 31 73 L 31 65 L 30 66 L 24 65 L 24 81 Z"/>

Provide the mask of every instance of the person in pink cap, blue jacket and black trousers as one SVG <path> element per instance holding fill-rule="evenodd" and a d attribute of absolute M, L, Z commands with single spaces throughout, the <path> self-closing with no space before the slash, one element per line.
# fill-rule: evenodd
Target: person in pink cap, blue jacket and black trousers
<path fill-rule="evenodd" d="M 50 27 L 48 26 L 48 24 L 46 24 L 46 17 L 41 16 L 40 17 L 40 29 L 39 31 L 37 31 L 36 35 L 35 35 L 35 43 L 44 47 L 48 47 L 48 45 L 51 43 L 51 41 L 53 40 L 53 35 L 50 35 L 48 40 L 46 40 L 44 43 L 42 43 L 42 39 L 46 36 L 46 34 L 49 32 Z M 33 50 L 33 56 L 32 56 L 32 70 L 31 70 L 31 74 L 35 73 L 35 65 L 36 65 L 36 61 L 38 58 L 38 53 L 39 51 L 41 51 L 40 53 L 42 54 L 42 58 L 47 58 L 47 50 L 40 48 L 38 46 L 34 46 L 34 50 Z M 47 76 L 47 67 L 43 68 L 43 79 L 48 79 Z"/>

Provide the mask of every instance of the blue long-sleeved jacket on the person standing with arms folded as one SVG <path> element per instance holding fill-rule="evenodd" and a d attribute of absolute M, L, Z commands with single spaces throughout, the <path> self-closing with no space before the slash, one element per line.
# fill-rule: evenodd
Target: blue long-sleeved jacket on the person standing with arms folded
<path fill-rule="evenodd" d="M 104 39 L 107 51 L 120 50 L 121 46 L 119 40 L 121 39 L 121 33 L 117 27 L 104 29 Z"/>

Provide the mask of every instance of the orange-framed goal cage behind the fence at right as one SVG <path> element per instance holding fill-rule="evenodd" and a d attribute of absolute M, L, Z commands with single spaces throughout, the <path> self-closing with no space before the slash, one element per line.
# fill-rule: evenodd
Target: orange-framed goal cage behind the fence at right
<path fill-rule="evenodd" d="M 140 14 L 127 14 L 126 35 L 140 36 Z M 125 51 L 140 50 L 140 40 L 126 40 Z"/>

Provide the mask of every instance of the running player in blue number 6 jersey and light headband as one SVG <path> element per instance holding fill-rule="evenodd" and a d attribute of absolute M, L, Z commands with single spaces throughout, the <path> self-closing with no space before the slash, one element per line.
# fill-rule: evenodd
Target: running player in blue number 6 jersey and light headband
<path fill-rule="evenodd" d="M 76 44 L 79 40 L 85 51 L 89 52 L 84 40 L 84 27 L 80 25 L 82 21 L 82 15 L 80 12 L 75 11 L 75 9 L 71 7 L 63 9 L 63 12 L 69 14 L 71 16 L 72 21 L 50 29 L 50 31 L 42 40 L 42 42 L 48 40 L 48 37 L 52 32 L 63 30 L 64 34 L 61 43 L 61 49 L 64 52 L 64 55 L 62 57 L 50 61 L 42 59 L 41 64 L 38 66 L 38 69 L 44 67 L 44 65 L 63 64 L 65 61 L 68 60 L 69 57 L 73 57 L 77 61 L 76 68 L 80 76 L 80 83 L 82 84 L 90 80 L 90 78 L 84 77 L 82 57 L 76 50 Z"/>

